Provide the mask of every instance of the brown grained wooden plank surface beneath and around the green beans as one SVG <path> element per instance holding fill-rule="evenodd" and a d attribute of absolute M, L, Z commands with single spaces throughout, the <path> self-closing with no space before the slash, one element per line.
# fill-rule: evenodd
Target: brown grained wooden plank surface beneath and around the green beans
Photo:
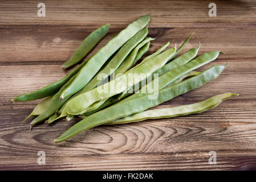
<path fill-rule="evenodd" d="M 213 1 L 0 1 L 0 169 L 256 169 L 256 3 Z M 99 126 L 55 144 L 53 140 L 79 119 L 40 124 L 31 133 L 30 114 L 38 100 L 14 103 L 19 94 L 42 88 L 68 71 L 60 65 L 91 31 L 111 23 L 108 35 L 92 51 L 141 15 L 151 14 L 152 53 L 170 41 L 182 51 L 201 42 L 199 54 L 224 51 L 214 64 L 228 67 L 200 89 L 157 106 L 186 105 L 225 92 L 239 93 L 201 114 L 127 125 Z M 38 164 L 38 151 L 46 164 Z M 217 164 L 208 163 L 216 151 Z"/>

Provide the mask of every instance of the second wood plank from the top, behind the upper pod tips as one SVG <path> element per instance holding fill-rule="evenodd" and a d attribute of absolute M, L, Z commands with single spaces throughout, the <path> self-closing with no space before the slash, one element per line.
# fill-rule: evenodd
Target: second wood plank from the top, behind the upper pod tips
<path fill-rule="evenodd" d="M 124 24 L 126 25 L 126 24 Z M 255 59 L 256 24 L 235 28 L 230 27 L 149 27 L 152 41 L 149 52 L 156 51 L 166 42 L 171 46 L 180 44 L 193 32 L 195 33 L 184 50 L 198 46 L 200 53 L 221 50 L 226 52 L 224 59 Z M 95 28 L 86 26 L 8 26 L 0 28 L 0 64 L 62 64 L 68 60 L 75 49 Z M 109 29 L 108 35 L 91 52 L 103 47 L 122 28 Z M 245 34 L 246 32 L 246 34 Z M 90 56 L 88 55 L 88 56 Z"/>

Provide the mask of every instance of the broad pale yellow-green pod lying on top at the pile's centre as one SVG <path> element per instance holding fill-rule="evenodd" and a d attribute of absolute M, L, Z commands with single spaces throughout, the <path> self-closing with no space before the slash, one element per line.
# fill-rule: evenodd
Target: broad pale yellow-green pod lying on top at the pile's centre
<path fill-rule="evenodd" d="M 87 111 L 87 108 L 94 104 L 94 102 L 105 100 L 106 98 L 112 97 L 119 94 L 129 88 L 130 86 L 137 84 L 141 80 L 147 78 L 147 75 L 152 74 L 161 67 L 163 67 L 169 57 L 173 55 L 176 48 L 170 48 L 160 55 L 153 57 L 139 67 L 132 69 L 131 71 L 125 72 L 124 75 L 111 80 L 104 85 L 98 86 L 97 88 L 90 90 L 86 93 L 80 94 L 72 98 L 67 104 L 66 109 L 63 110 L 68 114 L 80 115 Z M 133 77 L 133 81 L 128 81 L 129 76 L 140 74 L 139 77 Z M 113 87 L 112 87 L 113 86 Z M 62 113 L 63 113 L 62 112 Z"/>

